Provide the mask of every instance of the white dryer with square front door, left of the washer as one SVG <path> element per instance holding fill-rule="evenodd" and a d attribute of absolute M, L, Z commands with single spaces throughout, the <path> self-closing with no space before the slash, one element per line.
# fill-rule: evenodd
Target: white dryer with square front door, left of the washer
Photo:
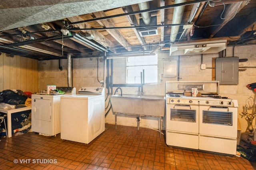
<path fill-rule="evenodd" d="M 60 97 L 75 95 L 75 87 L 56 87 L 65 94 L 32 94 L 31 131 L 54 136 L 60 133 Z"/>

